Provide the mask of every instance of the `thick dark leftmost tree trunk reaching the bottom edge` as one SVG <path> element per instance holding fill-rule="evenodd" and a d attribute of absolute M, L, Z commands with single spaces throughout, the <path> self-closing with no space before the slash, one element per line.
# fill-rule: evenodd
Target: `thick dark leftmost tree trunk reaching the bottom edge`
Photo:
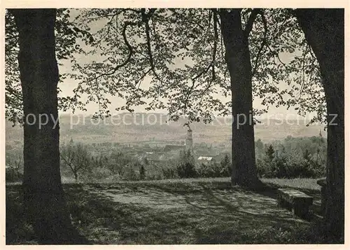
<path fill-rule="evenodd" d="M 59 126 L 55 125 L 59 79 L 55 57 L 56 11 L 13 9 L 11 12 L 20 36 L 25 214 L 41 243 L 66 242 L 70 221 L 59 172 Z"/>

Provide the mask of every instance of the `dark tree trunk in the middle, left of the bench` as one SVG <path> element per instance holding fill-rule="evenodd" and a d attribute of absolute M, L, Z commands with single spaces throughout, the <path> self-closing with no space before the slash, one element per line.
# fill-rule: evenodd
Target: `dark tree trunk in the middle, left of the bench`
<path fill-rule="evenodd" d="M 241 27 L 241 10 L 221 10 L 221 32 L 232 91 L 232 183 L 254 188 L 255 168 L 253 96 L 248 37 Z"/>

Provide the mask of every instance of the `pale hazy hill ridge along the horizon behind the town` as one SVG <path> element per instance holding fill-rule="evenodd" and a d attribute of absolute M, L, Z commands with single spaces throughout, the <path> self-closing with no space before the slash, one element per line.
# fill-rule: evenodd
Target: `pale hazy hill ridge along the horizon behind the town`
<path fill-rule="evenodd" d="M 324 125 L 306 126 L 304 120 L 260 120 L 254 126 L 255 139 L 262 141 L 274 141 L 293 137 L 318 136 L 320 130 L 325 137 Z M 114 123 L 114 125 L 113 125 Z M 178 122 L 169 122 L 161 113 L 121 113 L 118 117 L 106 120 L 92 120 L 91 117 L 83 118 L 83 115 L 61 115 L 59 117 L 60 138 L 66 141 L 73 138 L 74 141 L 84 142 L 119 142 L 119 143 L 171 143 L 184 141 L 187 127 L 184 118 Z M 222 144 L 230 143 L 231 119 L 216 118 L 213 123 L 192 123 L 193 140 L 195 143 Z M 23 140 L 22 127 L 6 121 L 6 144 L 16 144 Z"/>

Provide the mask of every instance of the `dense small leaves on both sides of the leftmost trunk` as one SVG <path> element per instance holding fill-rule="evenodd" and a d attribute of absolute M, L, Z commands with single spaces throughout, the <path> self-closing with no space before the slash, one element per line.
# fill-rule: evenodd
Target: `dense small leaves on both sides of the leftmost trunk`
<path fill-rule="evenodd" d="M 55 23 L 56 57 L 58 64 L 62 66 L 69 60 L 81 53 L 78 40 L 90 38 L 88 31 L 79 29 L 71 22 L 70 10 L 65 8 L 57 9 Z M 5 14 L 5 108 L 6 118 L 16 123 L 23 122 L 22 88 L 20 85 L 20 71 L 18 68 L 19 39 L 18 30 L 15 26 L 15 18 L 6 10 Z M 66 78 L 65 74 L 59 75 L 59 82 Z M 58 92 L 61 92 L 59 88 Z M 73 97 L 59 97 L 59 109 L 66 111 L 73 103 L 83 109 L 82 103 Z"/>

